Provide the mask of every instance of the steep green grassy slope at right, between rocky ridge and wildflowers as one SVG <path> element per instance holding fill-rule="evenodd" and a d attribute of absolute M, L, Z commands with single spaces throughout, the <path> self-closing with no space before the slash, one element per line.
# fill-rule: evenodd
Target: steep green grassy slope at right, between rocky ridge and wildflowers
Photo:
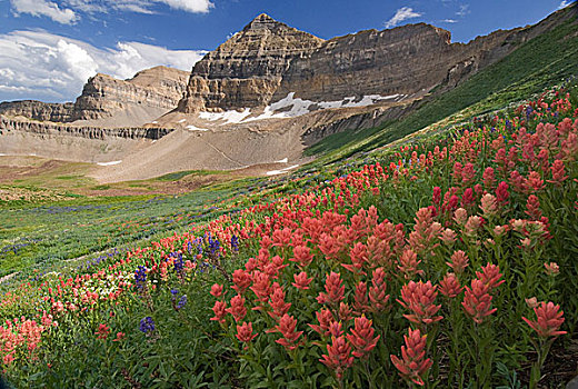
<path fill-rule="evenodd" d="M 567 12 L 569 10 L 566 10 Z M 462 84 L 423 103 L 406 118 L 377 129 L 328 137 L 309 153 L 322 153 L 327 163 L 371 150 L 420 130 L 468 107 L 484 113 L 528 98 L 560 80 L 578 74 L 578 23 L 568 20 L 521 44 L 511 54 L 468 79 Z"/>

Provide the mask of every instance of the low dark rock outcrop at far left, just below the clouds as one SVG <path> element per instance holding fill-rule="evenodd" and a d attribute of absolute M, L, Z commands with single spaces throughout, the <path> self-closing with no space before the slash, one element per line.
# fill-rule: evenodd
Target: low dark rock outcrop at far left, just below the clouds
<path fill-rule="evenodd" d="M 6 101 L 0 103 L 0 114 L 24 117 L 40 121 L 66 122 L 72 118 L 74 104 L 50 103 L 36 100 Z"/>

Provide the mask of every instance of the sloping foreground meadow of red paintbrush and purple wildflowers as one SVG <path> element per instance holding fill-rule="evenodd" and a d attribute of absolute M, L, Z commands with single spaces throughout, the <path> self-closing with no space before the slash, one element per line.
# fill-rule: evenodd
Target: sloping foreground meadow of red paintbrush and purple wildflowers
<path fill-rule="evenodd" d="M 356 158 L 13 286 L 0 299 L 6 380 L 564 386 L 551 356 L 578 323 L 578 88 Z"/>

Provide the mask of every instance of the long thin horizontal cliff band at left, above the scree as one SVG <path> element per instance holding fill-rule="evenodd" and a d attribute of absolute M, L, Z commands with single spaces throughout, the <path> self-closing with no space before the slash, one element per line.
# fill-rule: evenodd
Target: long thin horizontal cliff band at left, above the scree
<path fill-rule="evenodd" d="M 150 139 L 157 140 L 172 132 L 165 128 L 114 128 L 79 127 L 70 124 L 58 124 L 50 122 L 37 122 L 0 116 L 0 133 L 10 131 L 29 132 L 36 134 L 72 136 L 86 139 L 106 139 L 108 137 L 124 139 Z"/>

